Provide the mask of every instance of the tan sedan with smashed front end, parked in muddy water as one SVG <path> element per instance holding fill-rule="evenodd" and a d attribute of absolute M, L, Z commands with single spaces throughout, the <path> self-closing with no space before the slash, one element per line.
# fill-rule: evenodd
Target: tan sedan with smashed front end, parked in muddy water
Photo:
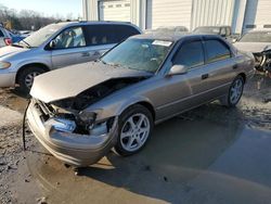
<path fill-rule="evenodd" d="M 140 151 L 155 124 L 204 103 L 235 106 L 254 58 L 209 35 L 141 35 L 98 62 L 35 78 L 28 125 L 54 156 L 76 166 L 112 148 Z"/>

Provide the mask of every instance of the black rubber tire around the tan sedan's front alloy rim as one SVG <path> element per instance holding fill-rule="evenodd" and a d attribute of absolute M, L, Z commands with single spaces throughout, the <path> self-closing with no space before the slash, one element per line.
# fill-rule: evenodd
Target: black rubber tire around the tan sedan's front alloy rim
<path fill-rule="evenodd" d="M 122 144 L 120 142 L 120 133 L 121 133 L 121 130 L 122 130 L 124 125 L 126 124 L 127 119 L 129 119 L 129 117 L 131 117 L 132 115 L 139 114 L 139 113 L 144 114 L 147 117 L 147 119 L 150 122 L 150 132 L 149 132 L 149 136 L 147 136 L 144 144 L 140 149 L 138 149 L 133 152 L 130 152 L 130 151 L 127 151 L 122 148 Z M 129 156 L 129 155 L 136 154 L 137 152 L 141 151 L 150 140 L 152 132 L 153 132 L 153 127 L 154 127 L 153 116 L 146 107 L 144 107 L 142 105 L 133 105 L 133 106 L 127 109 L 119 116 L 119 119 L 118 119 L 118 139 L 117 139 L 117 144 L 115 145 L 116 152 L 121 156 Z"/>

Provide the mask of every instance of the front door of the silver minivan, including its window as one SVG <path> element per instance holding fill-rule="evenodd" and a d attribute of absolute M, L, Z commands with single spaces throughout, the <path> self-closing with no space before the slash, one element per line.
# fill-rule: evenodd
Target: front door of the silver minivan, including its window
<path fill-rule="evenodd" d="M 52 49 L 52 64 L 54 68 L 78 64 L 82 59 L 89 59 L 87 43 L 81 26 L 63 30 L 54 39 Z"/>

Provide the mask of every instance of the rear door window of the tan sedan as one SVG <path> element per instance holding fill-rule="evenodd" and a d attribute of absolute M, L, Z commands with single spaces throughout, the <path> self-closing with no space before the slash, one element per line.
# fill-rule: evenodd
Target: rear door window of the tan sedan
<path fill-rule="evenodd" d="M 207 63 L 231 58 L 230 49 L 219 40 L 206 40 L 205 48 L 207 53 Z"/>

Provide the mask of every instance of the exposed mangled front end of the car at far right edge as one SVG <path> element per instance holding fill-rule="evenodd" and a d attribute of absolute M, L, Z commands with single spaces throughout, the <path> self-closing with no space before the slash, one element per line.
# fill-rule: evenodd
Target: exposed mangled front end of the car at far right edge
<path fill-rule="evenodd" d="M 271 73 L 271 50 L 254 53 L 254 56 L 257 71 Z"/>

